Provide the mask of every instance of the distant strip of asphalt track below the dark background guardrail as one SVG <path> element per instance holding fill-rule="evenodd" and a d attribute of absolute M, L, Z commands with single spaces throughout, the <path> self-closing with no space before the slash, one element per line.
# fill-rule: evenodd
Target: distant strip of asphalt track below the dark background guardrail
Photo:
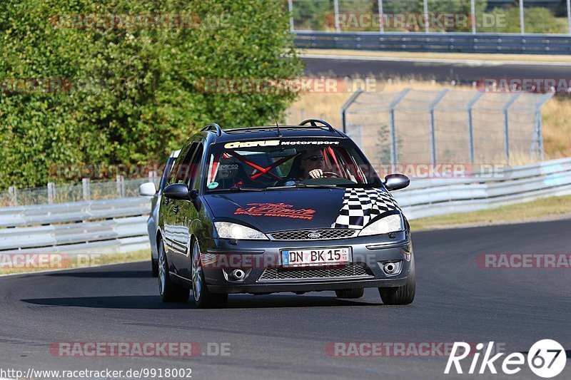
<path fill-rule="evenodd" d="M 375 76 L 377 78 L 424 78 L 436 81 L 472 83 L 482 78 L 568 78 L 569 65 L 545 63 L 470 63 L 375 61 L 350 58 L 304 57 L 305 76 Z"/>

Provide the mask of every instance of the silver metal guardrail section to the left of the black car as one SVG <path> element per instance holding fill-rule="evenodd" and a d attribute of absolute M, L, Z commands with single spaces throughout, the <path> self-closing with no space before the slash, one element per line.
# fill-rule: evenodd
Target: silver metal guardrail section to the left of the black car
<path fill-rule="evenodd" d="M 149 247 L 146 197 L 0 208 L 1 252 L 111 253 Z"/>

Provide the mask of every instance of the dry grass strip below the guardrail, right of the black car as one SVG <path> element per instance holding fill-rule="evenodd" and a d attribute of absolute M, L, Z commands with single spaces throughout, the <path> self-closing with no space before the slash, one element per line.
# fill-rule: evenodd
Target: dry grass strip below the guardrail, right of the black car
<path fill-rule="evenodd" d="M 410 220 L 413 231 L 433 230 L 439 227 L 450 227 L 470 224 L 491 224 L 501 222 L 528 222 L 542 217 L 571 215 L 571 196 L 548 197 L 532 202 L 519 203 L 493 208 L 490 210 L 461 212 L 458 214 L 423 217 Z"/>

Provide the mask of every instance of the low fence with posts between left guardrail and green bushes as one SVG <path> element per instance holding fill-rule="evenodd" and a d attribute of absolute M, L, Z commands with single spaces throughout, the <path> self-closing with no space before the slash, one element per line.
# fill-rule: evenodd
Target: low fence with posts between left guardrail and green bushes
<path fill-rule="evenodd" d="M 125 179 L 122 175 L 116 180 L 83 178 L 81 183 L 48 183 L 42 188 L 19 189 L 11 186 L 8 191 L 0 192 L 0 207 L 136 197 L 139 185 L 154 182 L 158 187 L 160 180 L 155 173 L 150 173 L 146 178 Z"/>

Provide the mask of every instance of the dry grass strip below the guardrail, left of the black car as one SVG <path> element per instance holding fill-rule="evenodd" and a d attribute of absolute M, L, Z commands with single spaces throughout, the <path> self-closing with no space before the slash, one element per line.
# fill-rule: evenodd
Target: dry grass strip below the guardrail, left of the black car
<path fill-rule="evenodd" d="M 151 250 L 140 250 L 127 253 L 109 254 L 78 254 L 66 253 L 47 254 L 0 254 L 0 275 L 39 272 L 53 269 L 70 269 L 83 267 L 96 267 L 98 265 L 120 264 L 123 262 L 137 262 L 149 260 Z M 149 276 L 150 273 L 149 265 Z"/>

